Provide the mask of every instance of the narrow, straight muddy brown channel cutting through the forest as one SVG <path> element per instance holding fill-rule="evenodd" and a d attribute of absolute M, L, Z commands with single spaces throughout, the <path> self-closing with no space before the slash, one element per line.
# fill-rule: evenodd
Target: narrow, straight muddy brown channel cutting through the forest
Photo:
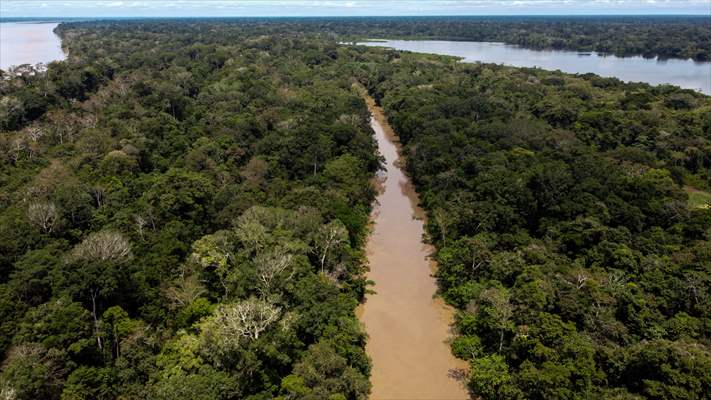
<path fill-rule="evenodd" d="M 359 318 L 369 335 L 373 360 L 371 400 L 468 399 L 460 381 L 466 363 L 452 356 L 452 309 L 434 297 L 434 265 L 422 243 L 423 212 L 398 167 L 398 145 L 382 110 L 367 98 L 387 179 L 373 211 L 368 241 L 368 278 L 376 294 L 367 297 Z"/>

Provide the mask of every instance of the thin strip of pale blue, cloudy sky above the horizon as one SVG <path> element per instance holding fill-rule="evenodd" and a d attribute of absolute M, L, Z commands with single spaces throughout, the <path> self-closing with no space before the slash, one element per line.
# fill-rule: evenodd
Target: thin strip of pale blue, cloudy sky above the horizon
<path fill-rule="evenodd" d="M 711 0 L 0 0 L 0 17 L 696 14 Z"/>

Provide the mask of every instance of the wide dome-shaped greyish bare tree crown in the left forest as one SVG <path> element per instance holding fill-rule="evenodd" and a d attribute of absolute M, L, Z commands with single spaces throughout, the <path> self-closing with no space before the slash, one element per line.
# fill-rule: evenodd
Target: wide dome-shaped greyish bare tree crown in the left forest
<path fill-rule="evenodd" d="M 75 260 L 123 262 L 130 257 L 131 244 L 115 231 L 92 233 L 72 250 Z"/>

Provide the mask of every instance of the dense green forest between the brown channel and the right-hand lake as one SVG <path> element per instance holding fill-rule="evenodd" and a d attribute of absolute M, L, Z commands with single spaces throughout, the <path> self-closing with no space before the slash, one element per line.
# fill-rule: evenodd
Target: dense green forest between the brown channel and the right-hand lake
<path fill-rule="evenodd" d="M 711 184 L 711 98 L 388 50 L 379 60 L 362 79 L 428 211 L 472 390 L 705 398 L 711 210 L 684 185 Z"/>

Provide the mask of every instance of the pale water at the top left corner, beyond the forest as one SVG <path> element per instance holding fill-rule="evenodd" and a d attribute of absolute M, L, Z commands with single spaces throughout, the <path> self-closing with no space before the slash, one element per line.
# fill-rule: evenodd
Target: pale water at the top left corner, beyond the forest
<path fill-rule="evenodd" d="M 63 60 L 56 22 L 0 22 L 0 69 Z"/>

